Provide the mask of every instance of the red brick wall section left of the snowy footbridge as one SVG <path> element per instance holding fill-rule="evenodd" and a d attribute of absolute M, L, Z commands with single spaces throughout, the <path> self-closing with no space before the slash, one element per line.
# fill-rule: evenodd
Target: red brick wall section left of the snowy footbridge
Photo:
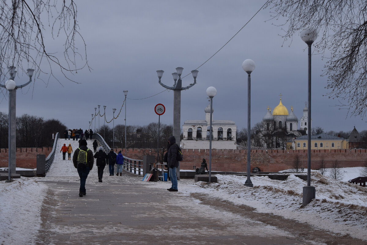
<path fill-rule="evenodd" d="M 34 169 L 37 167 L 37 154 L 48 157 L 52 147 L 41 148 L 17 148 L 15 164 L 17 168 Z M 8 167 L 8 149 L 0 149 L 0 167 Z"/>

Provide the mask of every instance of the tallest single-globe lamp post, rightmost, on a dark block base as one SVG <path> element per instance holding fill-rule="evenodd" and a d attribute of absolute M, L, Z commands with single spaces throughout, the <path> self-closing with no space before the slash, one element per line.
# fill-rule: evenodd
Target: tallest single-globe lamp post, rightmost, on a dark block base
<path fill-rule="evenodd" d="M 307 186 L 303 187 L 302 206 L 306 206 L 316 197 L 316 190 L 311 186 L 311 45 L 317 39 L 317 30 L 308 28 L 300 33 L 301 39 L 308 46 L 308 138 L 307 138 Z"/>

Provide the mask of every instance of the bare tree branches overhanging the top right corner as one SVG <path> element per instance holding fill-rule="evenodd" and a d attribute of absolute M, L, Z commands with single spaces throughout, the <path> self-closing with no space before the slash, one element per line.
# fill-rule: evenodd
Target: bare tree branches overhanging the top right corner
<path fill-rule="evenodd" d="M 284 20 L 284 41 L 309 26 L 319 38 L 315 51 L 327 59 L 323 75 L 329 98 L 339 100 L 351 116 L 366 116 L 367 2 L 364 0 L 269 0 L 272 20 Z M 326 50 L 330 57 L 326 57 Z"/>

